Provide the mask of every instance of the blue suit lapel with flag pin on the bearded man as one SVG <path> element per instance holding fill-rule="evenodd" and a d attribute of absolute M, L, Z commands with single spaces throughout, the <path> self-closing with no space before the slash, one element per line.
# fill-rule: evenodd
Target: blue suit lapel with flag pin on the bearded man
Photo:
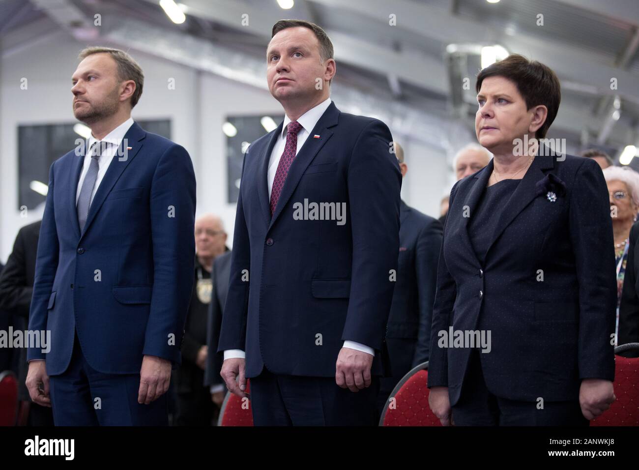
<path fill-rule="evenodd" d="M 118 178 L 122 174 L 122 172 L 127 168 L 128 164 L 135 158 L 135 155 L 142 148 L 142 139 L 146 137 L 146 132 L 142 130 L 142 128 L 137 125 L 137 123 L 133 123 L 129 130 L 127 130 L 127 134 L 125 134 L 124 139 L 122 139 L 118 152 L 114 155 L 111 160 L 111 164 L 109 165 L 109 169 L 107 169 L 107 173 L 105 173 L 104 178 L 102 178 L 102 182 L 100 182 L 100 186 L 98 186 L 98 191 L 96 191 L 95 196 L 93 197 L 93 201 L 91 201 L 91 206 L 89 207 L 89 215 L 86 219 L 86 224 L 84 224 L 84 231 L 82 235 L 86 233 L 89 225 L 95 219 L 95 215 L 97 214 L 100 207 L 102 207 L 102 203 L 111 192 L 111 189 L 118 181 Z M 130 146 L 130 150 L 126 150 L 125 146 Z M 77 217 L 76 217 L 77 219 Z"/>

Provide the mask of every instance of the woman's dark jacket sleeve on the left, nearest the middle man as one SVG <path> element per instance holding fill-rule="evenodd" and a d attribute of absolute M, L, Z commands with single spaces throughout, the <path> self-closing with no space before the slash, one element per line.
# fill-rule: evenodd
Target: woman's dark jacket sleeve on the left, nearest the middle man
<path fill-rule="evenodd" d="M 457 182 L 450 190 L 450 210 L 453 209 L 453 201 L 458 189 Z M 457 285 L 450 276 L 443 255 L 443 247 L 446 240 L 446 227 L 450 217 L 446 217 L 443 227 L 442 248 L 440 249 L 439 263 L 437 267 L 437 290 L 435 294 L 435 305 L 433 306 L 433 323 L 431 324 L 431 347 L 428 359 L 428 388 L 448 386 L 448 350 L 437 346 L 438 332 L 448 331 L 452 322 L 452 308 L 457 296 Z"/>

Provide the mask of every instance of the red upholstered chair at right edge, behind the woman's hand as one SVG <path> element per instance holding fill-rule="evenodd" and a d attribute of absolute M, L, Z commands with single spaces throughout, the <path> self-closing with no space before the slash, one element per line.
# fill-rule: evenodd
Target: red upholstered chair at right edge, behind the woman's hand
<path fill-rule="evenodd" d="M 615 348 L 617 400 L 601 416 L 592 419 L 590 426 L 639 426 L 639 357 L 617 356 L 624 352 L 639 352 L 639 343 Z"/>

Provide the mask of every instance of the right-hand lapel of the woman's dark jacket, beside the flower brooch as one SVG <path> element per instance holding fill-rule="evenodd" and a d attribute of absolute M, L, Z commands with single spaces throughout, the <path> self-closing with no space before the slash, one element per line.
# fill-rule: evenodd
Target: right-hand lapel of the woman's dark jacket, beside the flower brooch
<path fill-rule="evenodd" d="M 546 154 L 547 155 L 547 154 Z M 521 179 L 520 184 L 512 193 L 511 198 L 507 202 L 500 215 L 497 226 L 495 227 L 495 233 L 493 233 L 493 242 L 486 251 L 490 251 L 491 247 L 495 244 L 497 239 L 502 235 L 506 227 L 512 223 L 512 221 L 524 210 L 528 204 L 530 204 L 536 197 L 537 191 L 535 185 L 537 182 L 546 176 L 543 170 L 550 169 L 555 166 L 554 157 L 552 156 L 540 156 L 537 155 L 530 164 L 530 168 L 526 171 L 526 174 Z"/>

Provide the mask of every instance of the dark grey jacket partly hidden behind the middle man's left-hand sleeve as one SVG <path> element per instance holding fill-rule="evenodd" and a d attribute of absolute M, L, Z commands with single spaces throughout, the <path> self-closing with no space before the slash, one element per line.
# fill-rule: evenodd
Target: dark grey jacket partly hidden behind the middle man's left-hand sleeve
<path fill-rule="evenodd" d="M 208 325 L 206 328 L 206 344 L 208 356 L 206 356 L 206 369 L 204 370 L 204 385 L 224 384 L 220 377 L 224 353 L 217 352 L 220 342 L 220 329 L 222 329 L 222 315 L 226 304 L 226 295 L 229 292 L 229 274 L 231 272 L 231 251 L 218 256 L 213 261 L 213 291 L 211 303 L 208 308 Z"/>

